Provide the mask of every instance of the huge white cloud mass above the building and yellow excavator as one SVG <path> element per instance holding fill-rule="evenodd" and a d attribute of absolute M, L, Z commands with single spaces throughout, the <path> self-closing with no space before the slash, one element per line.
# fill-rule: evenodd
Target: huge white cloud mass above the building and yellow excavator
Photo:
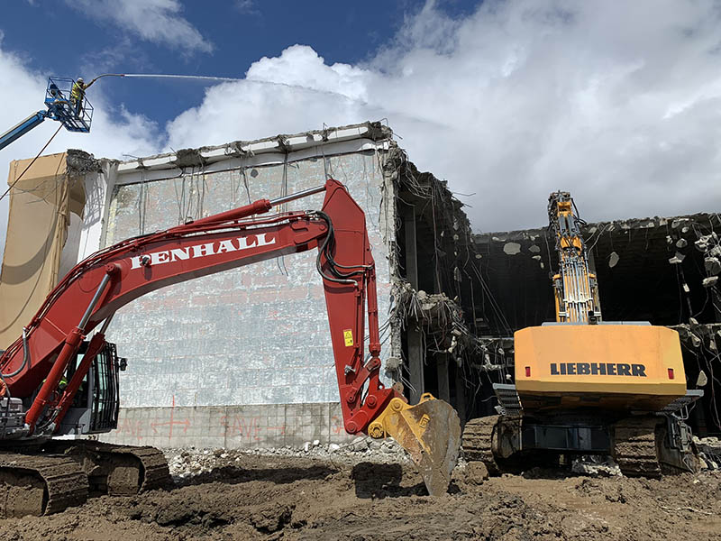
<path fill-rule="evenodd" d="M 258 60 L 170 123 L 169 141 L 385 117 L 417 166 L 476 194 L 461 198 L 478 230 L 543 225 L 559 188 L 592 220 L 715 211 L 720 18 L 711 0 L 489 1 L 462 20 L 429 3 L 364 65 L 305 46 Z"/>

